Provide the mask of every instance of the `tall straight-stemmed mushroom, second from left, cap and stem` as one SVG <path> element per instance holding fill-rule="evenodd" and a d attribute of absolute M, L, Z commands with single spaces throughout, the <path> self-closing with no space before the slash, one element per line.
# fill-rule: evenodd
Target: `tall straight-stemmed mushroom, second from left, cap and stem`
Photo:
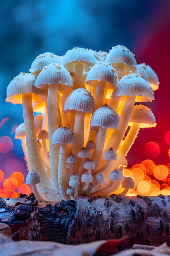
<path fill-rule="evenodd" d="M 58 91 L 70 90 L 73 87 L 73 81 L 69 72 L 59 63 L 51 63 L 44 67 L 37 76 L 35 86 L 37 88 L 48 89 L 47 97 L 47 113 L 49 126 L 49 154 L 51 177 L 58 190 L 58 153 L 59 146 L 52 144 L 52 136 L 55 130 L 59 127 L 58 114 Z"/>

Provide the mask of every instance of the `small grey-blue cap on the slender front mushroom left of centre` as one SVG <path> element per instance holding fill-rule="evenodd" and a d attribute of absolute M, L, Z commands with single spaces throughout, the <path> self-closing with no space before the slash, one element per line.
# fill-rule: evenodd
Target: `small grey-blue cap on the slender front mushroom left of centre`
<path fill-rule="evenodd" d="M 59 127 L 53 133 L 52 137 L 52 144 L 59 143 L 59 144 L 72 144 L 75 143 L 75 134 L 74 132 L 68 127 Z"/>

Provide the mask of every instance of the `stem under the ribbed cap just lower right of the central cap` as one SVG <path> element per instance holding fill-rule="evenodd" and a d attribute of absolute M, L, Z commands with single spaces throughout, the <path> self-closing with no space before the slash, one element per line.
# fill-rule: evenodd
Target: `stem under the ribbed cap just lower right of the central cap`
<path fill-rule="evenodd" d="M 104 141 L 105 141 L 105 138 L 106 138 L 106 131 L 107 131 L 106 127 L 104 127 L 104 128 L 99 127 L 99 132 L 98 132 L 98 135 L 97 135 L 95 149 L 93 151 L 93 156 L 92 156 L 92 160 L 95 163 L 95 170 L 99 166 L 99 162 L 100 162 L 99 159 L 101 159 L 101 157 L 102 157 L 103 148 L 104 148 Z"/>

